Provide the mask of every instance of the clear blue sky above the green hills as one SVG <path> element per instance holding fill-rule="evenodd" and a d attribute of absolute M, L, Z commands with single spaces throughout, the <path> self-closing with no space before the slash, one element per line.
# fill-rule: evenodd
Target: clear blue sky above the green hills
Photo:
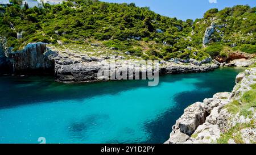
<path fill-rule="evenodd" d="M 115 3 L 135 3 L 137 6 L 149 6 L 152 11 L 160 15 L 176 17 L 177 19 L 202 18 L 205 11 L 234 5 L 256 6 L 255 0 L 100 0 Z M 210 3 L 211 2 L 211 3 Z"/>

